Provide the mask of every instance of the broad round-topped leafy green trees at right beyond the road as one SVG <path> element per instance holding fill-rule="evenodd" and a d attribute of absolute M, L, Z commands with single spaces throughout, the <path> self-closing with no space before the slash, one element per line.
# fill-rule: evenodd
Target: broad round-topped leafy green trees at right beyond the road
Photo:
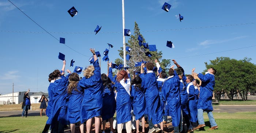
<path fill-rule="evenodd" d="M 210 60 L 210 64 L 205 62 L 207 69 L 213 67 L 217 70 L 214 88 L 217 99 L 226 92 L 230 100 L 233 100 L 237 93 L 242 100 L 247 100 L 248 91 L 255 90 L 256 85 L 256 65 L 249 61 L 251 58 L 247 57 L 243 60 L 217 57 L 215 60 Z"/>

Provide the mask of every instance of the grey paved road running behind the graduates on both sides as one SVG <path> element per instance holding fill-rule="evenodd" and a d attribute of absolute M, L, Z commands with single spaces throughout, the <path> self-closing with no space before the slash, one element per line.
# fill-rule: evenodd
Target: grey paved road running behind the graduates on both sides
<path fill-rule="evenodd" d="M 256 105 L 231 105 L 231 106 L 223 106 L 223 105 L 218 105 L 218 106 L 213 106 L 213 112 L 218 113 L 218 112 L 229 112 L 229 113 L 234 113 L 234 112 L 256 112 Z M 0 117 L 21 117 L 22 111 L 0 111 Z M 31 111 L 29 110 L 29 116 L 40 116 L 40 111 Z M 43 112 L 43 115 L 45 113 Z"/>

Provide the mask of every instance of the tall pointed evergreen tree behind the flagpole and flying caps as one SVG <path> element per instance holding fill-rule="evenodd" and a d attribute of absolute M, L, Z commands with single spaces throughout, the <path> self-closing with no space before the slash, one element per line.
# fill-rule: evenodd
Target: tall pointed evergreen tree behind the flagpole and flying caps
<path fill-rule="evenodd" d="M 148 52 L 149 49 L 144 49 L 143 46 L 139 46 L 139 41 L 138 41 L 139 35 L 143 38 L 143 35 L 140 34 L 140 28 L 138 24 L 135 22 L 134 33 L 130 36 L 128 43 L 125 44 L 126 46 L 129 46 L 132 49 L 130 53 L 126 52 L 126 55 L 129 54 L 131 56 L 129 61 L 126 62 L 127 67 L 130 67 L 131 70 L 135 70 L 137 68 L 137 71 L 140 71 L 140 67 L 135 67 L 135 62 L 140 62 L 142 61 L 142 59 L 144 61 L 151 61 L 151 62 L 154 62 L 154 60 L 157 59 L 163 69 L 170 66 L 170 59 L 161 60 L 162 51 L 158 51 L 158 50 L 154 52 L 151 51 L 150 53 L 152 54 L 152 56 L 151 57 L 146 56 L 145 53 Z M 143 43 L 146 43 L 146 40 L 144 38 L 143 38 Z M 120 50 L 118 50 L 118 52 L 120 57 L 123 58 L 123 47 L 121 47 Z M 117 58 L 115 60 L 115 63 L 116 64 L 120 63 L 121 62 L 120 60 L 121 60 L 120 58 Z"/>

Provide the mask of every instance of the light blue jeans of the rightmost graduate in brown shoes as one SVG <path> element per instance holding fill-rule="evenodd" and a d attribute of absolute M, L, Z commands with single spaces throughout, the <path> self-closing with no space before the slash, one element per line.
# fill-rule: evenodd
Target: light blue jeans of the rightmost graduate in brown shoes
<path fill-rule="evenodd" d="M 206 110 L 209 121 L 212 126 L 217 126 L 217 123 L 215 122 L 215 119 L 213 118 L 213 114 L 211 110 Z M 203 109 L 197 109 L 197 119 L 199 124 L 204 124 L 204 117 L 203 117 Z"/>

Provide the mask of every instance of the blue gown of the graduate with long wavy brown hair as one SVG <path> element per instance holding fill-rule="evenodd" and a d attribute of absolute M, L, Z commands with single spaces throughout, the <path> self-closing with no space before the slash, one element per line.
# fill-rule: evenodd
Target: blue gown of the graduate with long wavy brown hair
<path fill-rule="evenodd" d="M 68 120 L 70 123 L 76 123 L 80 121 L 83 89 L 78 86 L 77 90 L 78 91 L 72 90 L 71 94 L 68 94 Z"/>

